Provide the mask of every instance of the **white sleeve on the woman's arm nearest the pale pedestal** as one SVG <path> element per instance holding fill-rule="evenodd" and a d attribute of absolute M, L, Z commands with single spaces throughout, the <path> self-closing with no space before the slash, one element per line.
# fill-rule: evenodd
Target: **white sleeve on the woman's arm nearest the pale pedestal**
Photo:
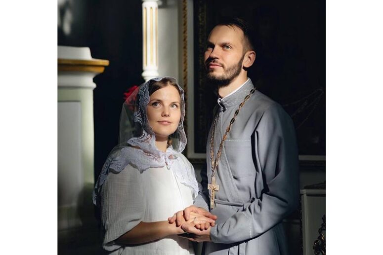
<path fill-rule="evenodd" d="M 114 241 L 141 222 L 144 212 L 140 172 L 130 165 L 119 173 L 110 172 L 101 189 L 104 249 L 119 249 L 121 246 Z"/>

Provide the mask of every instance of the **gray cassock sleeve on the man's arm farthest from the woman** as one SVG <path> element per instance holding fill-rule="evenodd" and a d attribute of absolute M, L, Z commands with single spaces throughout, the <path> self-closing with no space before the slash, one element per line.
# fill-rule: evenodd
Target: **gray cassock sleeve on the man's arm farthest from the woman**
<path fill-rule="evenodd" d="M 255 167 L 260 168 L 260 198 L 211 229 L 215 243 L 235 243 L 266 232 L 298 208 L 298 148 L 294 124 L 277 104 L 264 111 L 255 128 Z"/>

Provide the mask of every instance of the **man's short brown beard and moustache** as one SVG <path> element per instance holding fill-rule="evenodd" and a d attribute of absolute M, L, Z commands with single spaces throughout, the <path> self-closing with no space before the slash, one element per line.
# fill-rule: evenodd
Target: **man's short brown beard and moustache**
<path fill-rule="evenodd" d="M 231 83 L 231 81 L 236 78 L 239 73 L 241 73 L 242 70 L 242 61 L 245 56 L 242 56 L 241 60 L 238 62 L 238 64 L 233 65 L 229 68 L 227 68 L 226 72 L 223 73 L 220 76 L 214 75 L 213 73 L 209 72 L 209 63 L 214 63 L 214 61 L 209 60 L 206 62 L 206 80 L 208 83 L 215 85 L 217 88 L 226 87 Z"/>

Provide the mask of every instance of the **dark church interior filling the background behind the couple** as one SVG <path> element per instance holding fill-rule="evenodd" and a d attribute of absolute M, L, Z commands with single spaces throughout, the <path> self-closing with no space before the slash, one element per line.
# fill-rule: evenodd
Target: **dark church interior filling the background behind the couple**
<path fill-rule="evenodd" d="M 249 77 L 296 128 L 300 206 L 283 221 L 290 254 L 325 254 L 326 1 L 58 0 L 57 7 L 58 254 L 104 254 L 92 190 L 118 142 L 132 86 L 172 76 L 184 88 L 183 153 L 200 178 L 216 102 L 204 86 L 202 50 L 224 17 L 255 27 Z"/>

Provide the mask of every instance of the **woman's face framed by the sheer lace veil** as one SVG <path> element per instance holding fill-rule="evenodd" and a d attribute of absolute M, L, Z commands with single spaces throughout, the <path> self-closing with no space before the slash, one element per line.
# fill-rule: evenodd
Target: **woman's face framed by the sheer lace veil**
<path fill-rule="evenodd" d="M 168 140 L 181 119 L 181 97 L 178 90 L 168 85 L 151 96 L 147 108 L 149 125 L 156 135 L 156 141 Z"/>

